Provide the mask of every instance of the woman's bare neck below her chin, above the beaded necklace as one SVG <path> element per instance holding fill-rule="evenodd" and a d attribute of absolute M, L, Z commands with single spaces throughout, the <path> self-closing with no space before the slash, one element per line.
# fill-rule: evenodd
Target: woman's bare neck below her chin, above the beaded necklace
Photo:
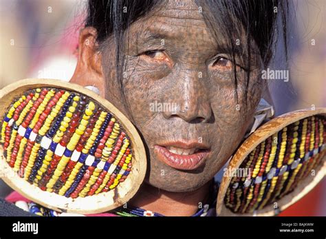
<path fill-rule="evenodd" d="M 171 192 L 144 183 L 130 205 L 164 216 L 192 216 L 208 202 L 210 183 L 190 192 Z"/>

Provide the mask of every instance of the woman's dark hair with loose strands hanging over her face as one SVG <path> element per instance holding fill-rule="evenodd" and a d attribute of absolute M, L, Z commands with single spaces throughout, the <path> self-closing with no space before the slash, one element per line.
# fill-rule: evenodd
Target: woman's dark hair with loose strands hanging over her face
<path fill-rule="evenodd" d="M 98 43 L 102 43 L 110 36 L 114 37 L 116 44 L 117 76 L 122 77 L 124 56 L 123 45 L 124 32 L 131 23 L 148 14 L 154 8 L 160 6 L 164 1 L 155 0 L 89 0 L 89 10 L 85 26 L 92 26 L 98 32 Z M 250 42 L 252 40 L 259 48 L 259 54 L 263 59 L 264 67 L 267 67 L 274 55 L 275 39 L 279 39 L 280 32 L 276 19 L 281 22 L 281 34 L 285 43 L 285 59 L 287 61 L 287 0 L 197 0 L 197 6 L 202 7 L 206 24 L 210 25 L 213 35 L 221 34 L 223 31 L 230 39 L 232 58 L 235 62 L 237 45 L 234 39 L 239 37 L 239 23 L 246 30 L 246 51 L 248 52 L 248 65 L 250 68 Z M 127 10 L 127 11 L 124 11 Z M 219 28 L 217 28 L 219 25 Z M 235 65 L 235 64 L 234 64 Z M 235 72 L 235 94 L 237 96 L 237 74 Z M 248 70 L 246 81 L 246 92 L 250 79 Z M 122 78 L 121 78 L 122 84 Z M 247 100 L 247 95 L 245 97 Z"/>

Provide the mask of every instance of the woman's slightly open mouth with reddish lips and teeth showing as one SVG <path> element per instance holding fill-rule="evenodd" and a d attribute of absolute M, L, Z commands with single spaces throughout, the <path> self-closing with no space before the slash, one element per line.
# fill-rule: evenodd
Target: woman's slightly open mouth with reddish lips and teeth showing
<path fill-rule="evenodd" d="M 202 143 L 169 142 L 155 145 L 157 157 L 175 169 L 193 170 L 205 163 L 210 149 Z"/>

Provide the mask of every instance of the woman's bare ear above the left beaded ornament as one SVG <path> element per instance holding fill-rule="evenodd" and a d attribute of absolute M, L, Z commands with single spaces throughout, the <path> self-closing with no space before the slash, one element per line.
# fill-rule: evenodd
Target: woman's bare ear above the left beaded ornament
<path fill-rule="evenodd" d="M 96 42 L 95 28 L 87 27 L 80 31 L 78 62 L 71 83 L 98 88 L 100 96 L 105 97 L 105 78 L 102 73 L 101 54 Z"/>

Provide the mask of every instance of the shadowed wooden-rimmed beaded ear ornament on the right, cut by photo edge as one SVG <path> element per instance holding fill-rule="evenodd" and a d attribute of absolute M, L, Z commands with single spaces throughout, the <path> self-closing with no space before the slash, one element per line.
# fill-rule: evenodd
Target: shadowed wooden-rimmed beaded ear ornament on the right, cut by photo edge
<path fill-rule="evenodd" d="M 230 160 L 217 198 L 219 216 L 274 216 L 326 173 L 326 108 L 268 121 Z"/>

